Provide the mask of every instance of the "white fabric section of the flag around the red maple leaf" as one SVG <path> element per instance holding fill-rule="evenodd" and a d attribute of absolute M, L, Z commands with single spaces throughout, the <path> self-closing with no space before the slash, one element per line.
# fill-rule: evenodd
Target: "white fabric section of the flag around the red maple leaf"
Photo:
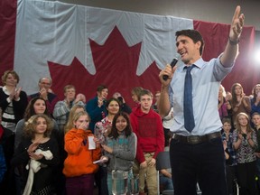
<path fill-rule="evenodd" d="M 95 66 L 89 39 L 104 44 L 117 26 L 128 46 L 142 42 L 136 75 L 155 60 L 159 69 L 175 57 L 175 32 L 193 29 L 192 20 L 138 14 L 41 0 L 18 0 L 14 70 L 28 94 L 50 76 L 48 61 L 70 65 L 77 57 L 90 74 Z"/>

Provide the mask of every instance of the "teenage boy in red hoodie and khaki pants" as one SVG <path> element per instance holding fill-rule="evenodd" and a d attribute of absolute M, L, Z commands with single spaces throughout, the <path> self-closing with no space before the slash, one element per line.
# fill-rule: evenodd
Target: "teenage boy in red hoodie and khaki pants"
<path fill-rule="evenodd" d="M 139 194 L 144 194 L 146 180 L 149 195 L 157 194 L 155 159 L 164 148 L 162 118 L 151 108 L 152 103 L 152 93 L 147 89 L 142 90 L 140 105 L 133 108 L 130 115 L 137 136 L 135 165 L 139 172 Z"/>

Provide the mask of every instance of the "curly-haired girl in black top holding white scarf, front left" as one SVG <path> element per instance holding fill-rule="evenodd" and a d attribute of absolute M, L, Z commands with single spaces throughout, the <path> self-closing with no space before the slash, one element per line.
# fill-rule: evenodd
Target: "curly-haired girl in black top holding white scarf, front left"
<path fill-rule="evenodd" d="M 51 118 L 42 114 L 31 116 L 25 123 L 26 138 L 16 148 L 11 162 L 27 178 L 22 184 L 24 195 L 51 194 L 53 167 L 59 163 L 58 144 L 50 137 L 52 126 Z"/>

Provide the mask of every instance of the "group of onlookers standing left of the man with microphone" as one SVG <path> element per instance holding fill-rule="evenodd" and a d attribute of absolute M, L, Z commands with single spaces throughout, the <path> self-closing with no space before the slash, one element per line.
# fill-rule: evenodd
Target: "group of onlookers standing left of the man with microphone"
<path fill-rule="evenodd" d="M 32 95 L 18 82 L 14 70 L 2 76 L 1 194 L 112 194 L 118 170 L 129 182 L 140 175 L 143 192 L 157 193 L 155 158 L 164 135 L 151 91 L 133 88 L 136 106 L 129 107 L 119 92 L 107 98 L 105 85 L 89 100 L 66 85 L 60 100 L 48 77 Z"/>

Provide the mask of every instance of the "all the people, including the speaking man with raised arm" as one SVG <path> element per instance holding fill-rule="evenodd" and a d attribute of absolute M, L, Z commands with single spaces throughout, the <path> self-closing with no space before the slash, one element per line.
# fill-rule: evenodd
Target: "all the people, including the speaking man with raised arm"
<path fill-rule="evenodd" d="M 105 85 L 89 100 L 67 85 L 60 100 L 47 77 L 39 79 L 39 92 L 27 95 L 17 88 L 18 74 L 6 70 L 0 88 L 1 194 L 87 195 L 96 186 L 99 195 L 110 195 L 125 185 L 114 183 L 122 172 L 129 185 L 120 193 L 130 193 L 135 175 L 141 195 L 163 188 L 195 194 L 197 183 L 203 194 L 231 195 L 235 180 L 240 195 L 259 193 L 260 84 L 249 96 L 239 83 L 230 92 L 221 85 L 237 58 L 244 20 L 237 6 L 226 49 L 209 62 L 201 58 L 200 32 L 176 32 L 183 64 L 160 72 L 162 89 L 154 95 L 133 88 L 135 107 L 119 92 L 108 98 Z M 162 170 L 158 189 L 156 156 L 169 148 L 172 170 Z"/>

